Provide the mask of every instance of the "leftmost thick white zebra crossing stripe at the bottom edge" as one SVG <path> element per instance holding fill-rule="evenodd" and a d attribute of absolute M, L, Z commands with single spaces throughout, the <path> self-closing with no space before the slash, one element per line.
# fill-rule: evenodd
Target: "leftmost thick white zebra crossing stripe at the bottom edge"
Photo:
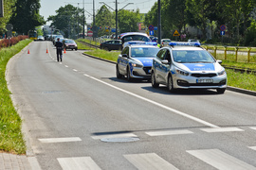
<path fill-rule="evenodd" d="M 101 170 L 91 157 L 57 158 L 63 170 Z"/>

